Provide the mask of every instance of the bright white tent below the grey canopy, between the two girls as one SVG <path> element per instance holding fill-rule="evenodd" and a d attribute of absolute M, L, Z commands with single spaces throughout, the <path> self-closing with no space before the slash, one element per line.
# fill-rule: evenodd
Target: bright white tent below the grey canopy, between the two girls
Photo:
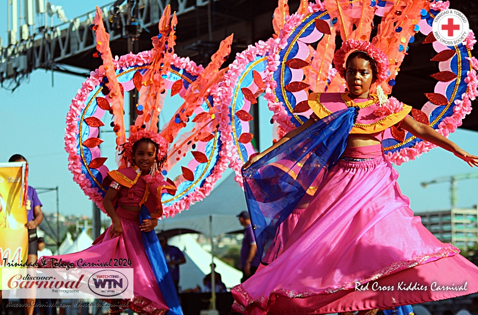
<path fill-rule="evenodd" d="M 172 237 L 169 245 L 178 247 L 186 256 L 186 264 L 179 268 L 179 286 L 182 290 L 193 289 L 198 285 L 203 287 L 203 278 L 211 273 L 211 253 L 201 248 L 191 234 Z M 226 264 L 219 258 L 214 258 L 215 271 L 221 274 L 221 280 L 227 288 L 240 283 L 242 272 Z"/>

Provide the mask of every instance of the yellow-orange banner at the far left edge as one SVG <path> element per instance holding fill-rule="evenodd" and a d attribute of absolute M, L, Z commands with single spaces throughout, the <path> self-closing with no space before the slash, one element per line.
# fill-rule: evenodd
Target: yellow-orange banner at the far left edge
<path fill-rule="evenodd" d="M 26 163 L 0 163 L 0 267 L 25 265 L 28 253 L 26 223 Z M 0 290 L 1 285 L 0 272 Z"/>

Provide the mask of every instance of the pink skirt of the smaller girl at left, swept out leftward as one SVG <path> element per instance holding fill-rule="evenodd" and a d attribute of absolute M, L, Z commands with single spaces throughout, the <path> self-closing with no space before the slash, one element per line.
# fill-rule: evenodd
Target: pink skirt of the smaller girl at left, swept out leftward
<path fill-rule="evenodd" d="M 117 214 L 121 219 L 122 233 L 118 237 L 110 238 L 111 226 L 101 234 L 93 245 L 81 252 L 58 255 L 44 258 L 55 258 L 63 262 L 77 263 L 106 263 L 110 259 L 129 259 L 133 268 L 134 297 L 129 301 L 128 307 L 137 313 L 151 315 L 165 314 L 169 308 L 166 306 L 163 296 L 155 281 L 151 265 L 144 251 L 139 230 L 139 212 L 128 211 L 118 208 Z M 49 267 L 49 266 L 45 266 Z M 109 300 L 106 300 L 110 302 Z"/>

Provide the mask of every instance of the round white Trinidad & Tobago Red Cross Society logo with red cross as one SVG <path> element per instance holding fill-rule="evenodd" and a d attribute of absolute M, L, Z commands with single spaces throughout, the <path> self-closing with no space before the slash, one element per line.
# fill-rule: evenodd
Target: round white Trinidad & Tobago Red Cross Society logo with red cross
<path fill-rule="evenodd" d="M 440 43 L 446 46 L 455 46 L 465 41 L 470 31 L 470 24 L 462 12 L 446 9 L 433 19 L 432 31 Z"/>

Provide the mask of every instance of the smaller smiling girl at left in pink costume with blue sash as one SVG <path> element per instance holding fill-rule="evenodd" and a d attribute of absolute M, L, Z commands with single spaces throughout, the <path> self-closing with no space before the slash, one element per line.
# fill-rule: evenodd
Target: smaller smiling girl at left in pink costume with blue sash
<path fill-rule="evenodd" d="M 157 219 L 162 215 L 161 191 L 176 190 L 158 171 L 166 158 L 166 149 L 166 140 L 157 133 L 144 130 L 133 133 L 122 153 L 130 167 L 108 172 L 109 177 L 103 183 L 109 186 L 103 205 L 112 225 L 90 248 L 42 258 L 72 263 L 82 259 L 82 264 L 128 259 L 133 268 L 134 297 L 122 302 L 137 313 L 182 315 L 171 274 L 154 233 Z M 118 307 L 110 309 L 110 314 L 120 312 Z"/>

